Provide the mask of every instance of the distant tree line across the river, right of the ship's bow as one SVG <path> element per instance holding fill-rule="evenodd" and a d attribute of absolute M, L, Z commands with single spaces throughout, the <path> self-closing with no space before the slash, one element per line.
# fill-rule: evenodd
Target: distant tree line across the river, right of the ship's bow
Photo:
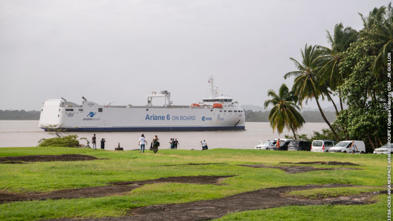
<path fill-rule="evenodd" d="M 245 110 L 246 122 L 269 122 L 269 111 L 252 111 Z M 333 122 L 336 119 L 336 113 L 333 111 L 325 111 L 325 117 L 329 122 Z M 305 122 L 309 123 L 323 123 L 325 122 L 319 111 L 303 111 L 301 112 Z"/>

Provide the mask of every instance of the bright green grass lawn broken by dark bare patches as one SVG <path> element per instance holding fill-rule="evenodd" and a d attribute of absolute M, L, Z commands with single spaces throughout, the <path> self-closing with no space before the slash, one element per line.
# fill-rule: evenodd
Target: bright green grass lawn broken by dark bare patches
<path fill-rule="evenodd" d="M 144 185 L 126 195 L 119 196 L 7 203 L 0 205 L 0 220 L 16 221 L 61 217 L 123 216 L 130 208 L 140 206 L 216 199 L 260 188 L 284 185 L 343 183 L 380 187 L 386 184 L 386 155 L 233 149 L 213 149 L 208 151 L 159 150 L 157 154 L 147 150 L 144 154 L 140 154 L 139 151 L 93 151 L 85 148 L 0 148 L 0 157 L 37 154 L 58 155 L 64 153 L 87 154 L 107 159 L 96 161 L 0 164 L 0 192 L 19 194 L 51 192 L 53 190 L 68 188 L 103 186 L 115 181 L 136 181 L 172 176 L 237 176 L 224 179 L 222 183 L 226 185 L 157 183 Z M 279 165 L 279 162 L 300 161 L 351 162 L 362 166 L 345 167 L 362 168 L 364 170 L 327 170 L 286 174 L 279 169 L 249 168 L 235 165 L 261 163 Z M 154 167 L 164 164 L 187 163 L 226 164 Z M 343 167 L 329 165 L 309 166 L 327 168 Z M 366 191 L 375 189 L 378 188 L 365 188 Z M 335 191 L 340 192 L 342 190 L 326 191 L 331 191 L 329 193 L 334 194 Z M 353 188 L 351 191 L 356 192 L 360 190 Z M 297 194 L 305 195 L 312 194 L 312 192 Z M 318 193 L 314 192 L 314 194 Z M 376 213 L 385 214 L 386 205 L 384 205 L 384 201 L 381 199 L 382 196 L 376 197 L 376 201 L 379 201 L 379 203 L 372 205 L 351 206 L 351 211 L 349 212 L 359 214 L 358 212 L 360 211 L 373 210 Z M 287 206 L 269 210 L 230 214 L 222 217 L 222 220 L 309 220 L 309 216 L 312 214 L 308 213 L 314 214 L 312 211 L 315 210 L 324 211 L 325 213 L 323 214 L 325 215 L 321 215 L 321 217 L 329 218 L 315 220 L 354 220 L 340 218 L 344 216 L 343 213 L 347 211 L 345 208 L 349 208 L 348 206 L 328 207 L 329 210 L 332 210 L 330 214 L 326 212 L 326 208 L 327 206 Z M 284 213 L 283 210 L 289 212 Z M 299 216 L 291 216 L 290 219 L 286 219 L 286 215 L 290 216 L 292 213 L 296 213 Z"/>

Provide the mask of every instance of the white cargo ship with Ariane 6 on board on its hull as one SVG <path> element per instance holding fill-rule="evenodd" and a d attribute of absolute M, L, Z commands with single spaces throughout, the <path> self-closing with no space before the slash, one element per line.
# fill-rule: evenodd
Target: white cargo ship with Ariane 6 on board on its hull
<path fill-rule="evenodd" d="M 48 131 L 61 128 L 69 132 L 154 132 L 245 130 L 245 114 L 237 101 L 219 96 L 209 78 L 210 96 L 202 102 L 176 106 L 169 91 L 152 91 L 144 106 L 100 105 L 82 97 L 82 105 L 65 99 L 44 102 L 39 127 Z M 163 98 L 154 106 L 153 98 Z"/>

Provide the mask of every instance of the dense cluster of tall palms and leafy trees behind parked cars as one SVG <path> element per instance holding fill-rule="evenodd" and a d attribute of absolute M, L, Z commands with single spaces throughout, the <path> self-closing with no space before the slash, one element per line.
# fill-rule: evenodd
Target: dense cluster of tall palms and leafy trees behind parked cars
<path fill-rule="evenodd" d="M 327 32 L 330 47 L 305 46 L 302 60 L 290 58 L 296 71 L 292 90 L 299 104 L 314 99 L 330 130 L 314 132 L 304 139 L 362 140 L 369 148 L 387 142 L 387 55 L 393 49 L 393 8 L 374 8 L 368 16 L 360 14 L 363 29 L 356 31 L 340 23 L 334 33 Z M 337 108 L 331 95 L 340 98 Z M 336 109 L 332 124 L 320 108 L 319 99 L 327 98 Z M 342 102 L 348 108 L 343 110 Z M 339 110 L 341 109 L 341 110 Z"/>

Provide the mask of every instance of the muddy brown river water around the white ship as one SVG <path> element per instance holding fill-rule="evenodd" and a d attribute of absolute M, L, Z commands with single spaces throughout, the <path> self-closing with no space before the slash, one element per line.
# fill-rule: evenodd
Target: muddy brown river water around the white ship
<path fill-rule="evenodd" d="M 325 123 L 307 123 L 299 134 L 312 134 L 313 131 L 321 131 L 327 128 Z M 92 132 L 77 132 L 79 137 L 86 137 L 91 141 Z M 141 132 L 97 132 L 97 147 L 100 140 L 105 138 L 105 149 L 114 150 L 120 143 L 124 150 L 134 150 L 139 148 L 138 141 Z M 178 149 L 202 149 L 200 141 L 206 140 L 209 149 L 212 148 L 238 148 L 253 149 L 259 141 L 269 139 L 284 138 L 284 135 L 292 135 L 285 130 L 281 135 L 277 131 L 273 133 L 269 122 L 246 122 L 244 131 L 214 131 L 214 132 L 144 132 L 150 147 L 150 141 L 154 135 L 160 139 L 159 149 L 169 149 L 169 141 L 176 138 L 180 146 Z M 26 147 L 37 146 L 41 138 L 51 138 L 48 132 L 38 127 L 38 121 L 0 121 L 0 147 Z M 81 140 L 81 144 L 86 144 L 86 140 Z M 91 146 L 91 144 L 90 144 Z"/>

